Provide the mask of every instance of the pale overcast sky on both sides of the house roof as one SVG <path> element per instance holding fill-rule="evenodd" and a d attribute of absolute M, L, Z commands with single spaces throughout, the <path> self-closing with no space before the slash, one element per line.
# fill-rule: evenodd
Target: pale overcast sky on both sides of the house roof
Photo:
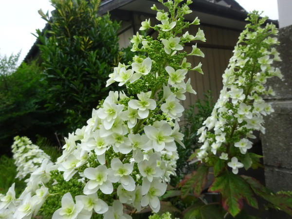
<path fill-rule="evenodd" d="M 237 0 L 247 11 L 264 11 L 263 15 L 278 19 L 277 0 Z M 17 54 L 22 61 L 34 42 L 36 29 L 43 29 L 45 21 L 37 11 L 44 13 L 54 8 L 49 0 L 0 0 L 0 54 Z"/>

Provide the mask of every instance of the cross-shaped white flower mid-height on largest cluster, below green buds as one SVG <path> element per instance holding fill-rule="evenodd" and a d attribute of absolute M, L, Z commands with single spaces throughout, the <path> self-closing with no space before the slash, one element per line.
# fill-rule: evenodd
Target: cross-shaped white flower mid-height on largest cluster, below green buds
<path fill-rule="evenodd" d="M 156 101 L 150 99 L 151 91 L 144 93 L 141 92 L 137 94 L 139 100 L 130 100 L 128 106 L 132 109 L 138 109 L 138 115 L 145 119 L 149 115 L 149 110 L 154 110 L 156 108 Z"/>

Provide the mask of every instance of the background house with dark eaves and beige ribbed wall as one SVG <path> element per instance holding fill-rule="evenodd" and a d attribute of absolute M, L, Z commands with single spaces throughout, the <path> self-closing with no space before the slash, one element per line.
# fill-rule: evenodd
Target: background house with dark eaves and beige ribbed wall
<path fill-rule="evenodd" d="M 112 19 L 121 21 L 118 35 L 122 48 L 130 45 L 129 38 L 136 35 L 141 22 L 146 18 L 150 18 L 152 24 L 157 22 L 155 11 L 150 9 L 153 4 L 156 4 L 158 8 L 163 7 L 157 0 L 102 0 L 99 13 L 103 15 L 109 12 Z M 186 108 L 196 100 L 202 99 L 203 94 L 208 90 L 213 93 L 213 101 L 217 100 L 222 88 L 221 75 L 228 65 L 247 17 L 247 12 L 235 0 L 193 0 L 190 9 L 193 13 L 187 15 L 186 19 L 192 22 L 198 17 L 201 20 L 199 27 L 204 31 L 207 41 L 198 42 L 198 47 L 205 54 L 205 58 L 194 56 L 188 60 L 193 66 L 201 62 L 204 75 L 197 72 L 187 74 L 187 77 L 192 79 L 192 86 L 198 94 L 187 97 L 183 102 Z M 49 25 L 46 25 L 44 29 L 47 28 Z M 198 26 L 192 25 L 188 31 L 195 35 L 197 30 Z M 147 34 L 155 37 L 151 31 Z M 25 57 L 26 62 L 38 56 L 38 43 L 37 41 L 33 45 Z M 192 44 L 186 45 L 187 51 L 191 51 L 191 48 Z"/>

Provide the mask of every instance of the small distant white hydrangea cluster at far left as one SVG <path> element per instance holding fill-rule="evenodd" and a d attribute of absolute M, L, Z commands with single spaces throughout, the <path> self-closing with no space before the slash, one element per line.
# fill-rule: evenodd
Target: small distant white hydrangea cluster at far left
<path fill-rule="evenodd" d="M 17 178 L 25 178 L 34 172 L 45 159 L 51 159 L 27 137 L 16 136 L 12 145 L 13 159 L 17 166 Z"/>

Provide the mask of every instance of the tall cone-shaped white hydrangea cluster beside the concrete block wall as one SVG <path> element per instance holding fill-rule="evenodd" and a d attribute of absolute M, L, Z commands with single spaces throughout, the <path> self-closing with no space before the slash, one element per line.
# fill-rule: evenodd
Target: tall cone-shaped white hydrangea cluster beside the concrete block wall
<path fill-rule="evenodd" d="M 263 116 L 274 110 L 262 95 L 274 95 L 271 87 L 264 85 L 268 78 L 282 78 L 280 70 L 272 67 L 281 61 L 274 47 L 278 44 L 274 24 L 266 24 L 267 18 L 258 20 L 256 12 L 247 20 L 251 24 L 240 34 L 228 68 L 223 77 L 223 88 L 210 117 L 198 130 L 203 145 L 197 152 L 200 161 L 208 162 L 210 156 L 230 161 L 234 174 L 244 165 L 239 160 L 249 159 L 247 150 L 252 147 L 248 138 L 255 138 L 253 130 L 265 132 Z M 238 159 L 237 159 L 238 158 Z"/>

